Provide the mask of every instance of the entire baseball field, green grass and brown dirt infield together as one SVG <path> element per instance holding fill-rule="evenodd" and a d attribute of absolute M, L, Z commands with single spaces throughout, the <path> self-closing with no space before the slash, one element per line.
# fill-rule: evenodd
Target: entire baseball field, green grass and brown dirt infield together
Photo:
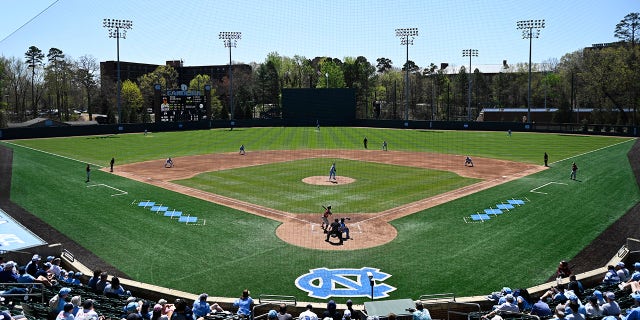
<path fill-rule="evenodd" d="M 619 137 L 323 127 L 1 143 L 14 152 L 12 201 L 131 279 L 223 297 L 249 288 L 322 300 L 296 286 L 318 268 L 378 270 L 391 298 L 528 287 L 640 199 L 626 156 L 635 140 Z M 515 199 L 522 204 L 489 220 L 470 219 Z M 351 219 L 353 239 L 324 241 L 323 205 Z M 366 299 L 358 292 L 350 297 Z"/>

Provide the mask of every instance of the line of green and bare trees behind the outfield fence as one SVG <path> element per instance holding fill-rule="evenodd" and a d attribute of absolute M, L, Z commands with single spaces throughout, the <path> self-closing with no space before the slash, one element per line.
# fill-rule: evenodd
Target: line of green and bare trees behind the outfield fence
<path fill-rule="evenodd" d="M 593 109 L 590 123 L 637 125 L 640 97 L 640 59 L 637 46 L 640 14 L 627 14 L 614 28 L 619 42 L 593 46 L 532 65 L 532 107 L 557 108 L 553 121 L 586 122 L 574 110 Z M 412 120 L 476 119 L 483 108 L 526 108 L 528 65 L 503 63 L 500 72 L 470 74 L 464 66 L 452 70 L 447 63 L 420 67 L 414 61 L 396 66 L 388 58 L 375 62 L 365 57 L 267 55 L 250 69 L 233 68 L 233 102 L 229 104 L 228 77 L 196 75 L 189 90 L 211 85 L 213 119 L 272 118 L 280 114 L 285 88 L 351 88 L 356 92 L 358 118 L 403 119 L 408 99 Z M 405 97 L 405 72 L 409 96 Z M 471 77 L 471 79 L 469 78 Z M 122 122 L 151 121 L 153 86 L 177 88 L 178 72 L 171 66 L 135 80 L 122 82 Z M 471 80 L 471 81 L 469 81 Z M 107 82 L 107 81 L 105 81 Z M 471 90 L 469 90 L 471 85 Z M 101 83 L 99 63 L 90 55 L 67 57 L 58 48 L 45 54 L 31 46 L 24 57 L 0 57 L 0 126 L 36 117 L 70 121 L 80 112 L 118 115 L 116 83 Z M 468 93 L 471 92 L 471 108 Z M 231 115 L 230 110 L 235 114 Z M 519 121 L 520 119 L 505 119 Z"/>

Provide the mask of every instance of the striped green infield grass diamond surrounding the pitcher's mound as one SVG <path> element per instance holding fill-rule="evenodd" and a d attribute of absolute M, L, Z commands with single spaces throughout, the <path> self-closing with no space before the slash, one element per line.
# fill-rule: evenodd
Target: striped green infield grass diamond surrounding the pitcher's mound
<path fill-rule="evenodd" d="M 320 204 L 331 204 L 342 214 L 381 212 L 480 181 L 446 171 L 352 160 L 337 160 L 336 164 L 341 175 L 356 179 L 354 183 L 327 187 L 301 181 L 328 172 L 325 167 L 330 161 L 273 163 L 207 172 L 174 182 L 286 212 L 317 213 Z"/>

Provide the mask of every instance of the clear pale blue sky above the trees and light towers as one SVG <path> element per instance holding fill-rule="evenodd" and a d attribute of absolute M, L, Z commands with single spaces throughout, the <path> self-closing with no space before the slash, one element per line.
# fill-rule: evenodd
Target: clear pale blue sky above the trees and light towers
<path fill-rule="evenodd" d="M 560 59 L 595 43 L 617 41 L 615 26 L 640 12 L 638 0 L 1 0 L 0 56 L 24 60 L 30 46 L 46 55 L 116 60 L 117 42 L 104 18 L 133 21 L 120 39 L 120 60 L 185 66 L 229 63 L 221 31 L 242 32 L 234 63 L 281 56 L 380 57 L 401 67 L 407 47 L 397 28 L 418 28 L 409 60 L 423 68 L 442 62 L 469 65 L 463 49 L 477 49 L 472 65 L 526 63 L 529 40 L 519 20 L 545 19 L 533 39 L 532 62 Z"/>

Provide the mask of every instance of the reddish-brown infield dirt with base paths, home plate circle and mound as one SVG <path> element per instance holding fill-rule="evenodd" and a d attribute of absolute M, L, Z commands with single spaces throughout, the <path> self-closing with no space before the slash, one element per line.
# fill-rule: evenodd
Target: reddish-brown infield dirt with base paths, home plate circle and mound
<path fill-rule="evenodd" d="M 483 181 L 375 214 L 349 214 L 351 220 L 347 221 L 347 225 L 350 228 L 352 239 L 344 241 L 344 244 L 341 246 L 336 244 L 337 240 L 335 238 L 331 239 L 331 243 L 324 241 L 326 235 L 320 228 L 320 224 L 322 223 L 321 211 L 317 214 L 283 212 L 201 190 L 195 190 L 171 182 L 172 180 L 190 178 L 202 172 L 318 157 L 380 162 L 408 167 L 452 171 L 463 177 L 479 178 Z M 280 221 L 282 224 L 277 228 L 276 234 L 282 240 L 296 246 L 323 250 L 353 250 L 379 246 L 393 240 L 397 235 L 397 231 L 389 224 L 389 221 L 545 169 L 543 166 L 477 157 L 473 158 L 474 167 L 466 167 L 464 166 L 464 159 L 465 157 L 461 155 L 403 151 L 279 150 L 247 152 L 246 155 L 221 153 L 173 158 L 175 163 L 175 167 L 173 168 L 164 168 L 164 159 L 153 160 L 117 166 L 114 168 L 114 173 Z M 104 168 L 103 170 L 105 169 L 108 170 L 108 168 Z M 314 176 L 304 178 L 301 183 L 320 184 L 331 188 L 335 185 L 354 182 L 352 178 L 340 175 L 337 176 L 336 180 L 337 181 L 330 182 L 328 175 Z M 339 208 L 334 209 L 337 209 L 338 212 L 334 212 L 333 218 L 341 217 Z"/>

